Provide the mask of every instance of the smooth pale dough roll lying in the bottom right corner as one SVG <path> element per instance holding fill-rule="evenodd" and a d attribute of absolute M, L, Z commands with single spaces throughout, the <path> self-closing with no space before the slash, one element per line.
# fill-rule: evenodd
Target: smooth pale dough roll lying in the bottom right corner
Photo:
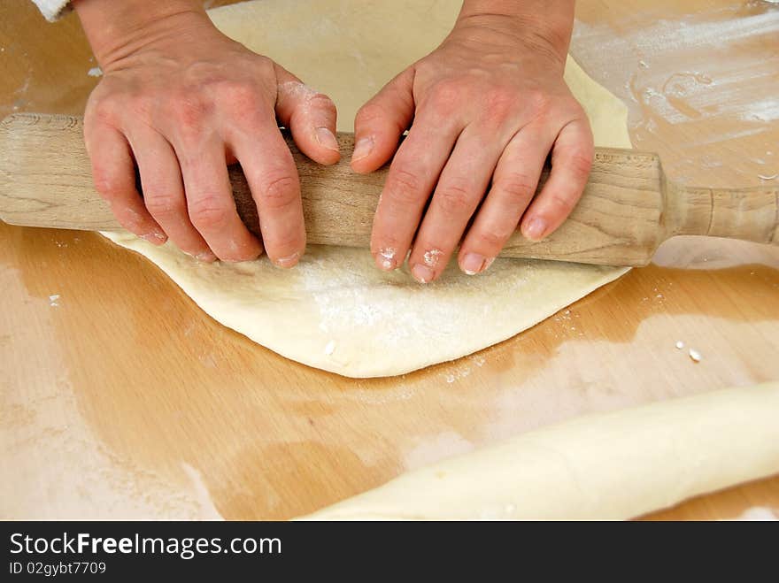
<path fill-rule="evenodd" d="M 779 383 L 548 426 L 304 517 L 626 519 L 779 472 Z"/>

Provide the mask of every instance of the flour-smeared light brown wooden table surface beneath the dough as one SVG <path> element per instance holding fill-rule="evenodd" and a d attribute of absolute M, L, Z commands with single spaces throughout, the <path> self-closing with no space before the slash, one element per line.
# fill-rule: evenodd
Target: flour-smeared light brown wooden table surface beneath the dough
<path fill-rule="evenodd" d="M 675 180 L 775 180 L 779 7 L 580 2 L 573 51 Z M 0 117 L 81 113 L 94 66 L 73 16 L 0 0 Z M 289 518 L 588 411 L 779 379 L 776 248 L 668 242 L 509 341 L 349 380 L 216 324 L 96 234 L 0 224 L 0 243 L 3 518 Z M 753 507 L 779 513 L 779 477 L 651 518 Z"/>

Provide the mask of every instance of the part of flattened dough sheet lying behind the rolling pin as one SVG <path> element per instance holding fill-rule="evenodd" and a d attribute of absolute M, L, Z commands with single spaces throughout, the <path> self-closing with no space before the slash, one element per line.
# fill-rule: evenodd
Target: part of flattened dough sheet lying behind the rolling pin
<path fill-rule="evenodd" d="M 462 0 L 261 0 L 208 12 L 226 35 L 273 58 L 338 107 L 351 132 L 359 107 L 451 31 Z M 597 146 L 630 148 L 628 109 L 568 59 L 566 81 Z"/>

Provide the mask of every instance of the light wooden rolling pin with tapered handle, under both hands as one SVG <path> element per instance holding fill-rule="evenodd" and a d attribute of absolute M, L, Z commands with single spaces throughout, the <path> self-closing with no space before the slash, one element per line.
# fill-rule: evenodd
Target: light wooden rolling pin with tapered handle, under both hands
<path fill-rule="evenodd" d="M 0 123 L 0 219 L 11 225 L 116 230 L 96 193 L 81 118 L 14 114 Z M 351 134 L 338 134 L 341 161 L 318 165 L 285 135 L 297 164 L 308 242 L 368 247 L 388 168 L 351 171 Z M 230 167 L 241 219 L 259 233 L 257 209 L 239 165 Z M 544 173 L 539 188 L 549 176 Z M 582 200 L 542 242 L 513 234 L 501 257 L 598 265 L 646 265 L 681 234 L 779 245 L 779 186 L 688 188 L 667 180 L 655 154 L 598 148 Z"/>

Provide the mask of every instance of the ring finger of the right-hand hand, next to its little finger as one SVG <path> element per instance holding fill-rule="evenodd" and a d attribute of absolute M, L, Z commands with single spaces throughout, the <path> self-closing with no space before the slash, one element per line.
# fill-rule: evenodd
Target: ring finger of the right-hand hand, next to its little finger
<path fill-rule="evenodd" d="M 505 147 L 492 176 L 490 192 L 468 229 L 459 250 L 460 269 L 468 275 L 483 272 L 519 225 L 536 194 L 554 136 L 527 126 Z"/>

